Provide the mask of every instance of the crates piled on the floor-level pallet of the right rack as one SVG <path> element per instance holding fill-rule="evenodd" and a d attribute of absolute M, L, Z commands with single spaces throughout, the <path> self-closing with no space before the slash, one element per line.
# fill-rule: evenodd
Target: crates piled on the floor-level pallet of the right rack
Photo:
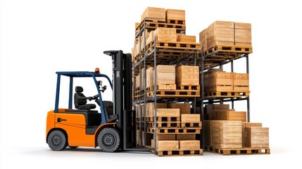
<path fill-rule="evenodd" d="M 213 109 L 215 118 L 210 115 Z M 203 122 L 205 150 L 217 154 L 270 154 L 268 127 L 247 123 L 241 112 L 227 111 L 229 105 L 207 105 L 209 119 Z M 210 111 L 210 113 L 208 112 Z M 217 114 L 218 113 L 218 114 Z"/>

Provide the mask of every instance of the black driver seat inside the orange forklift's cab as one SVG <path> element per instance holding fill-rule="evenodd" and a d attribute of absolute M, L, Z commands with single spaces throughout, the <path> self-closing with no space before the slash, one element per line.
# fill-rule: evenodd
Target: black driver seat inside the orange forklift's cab
<path fill-rule="evenodd" d="M 85 110 L 85 111 L 89 111 L 92 108 L 96 108 L 95 104 L 87 104 L 87 97 L 82 94 L 83 92 L 83 87 L 77 86 L 75 87 L 75 95 L 74 95 L 74 99 L 75 99 L 75 108 L 77 108 L 78 110 Z"/>

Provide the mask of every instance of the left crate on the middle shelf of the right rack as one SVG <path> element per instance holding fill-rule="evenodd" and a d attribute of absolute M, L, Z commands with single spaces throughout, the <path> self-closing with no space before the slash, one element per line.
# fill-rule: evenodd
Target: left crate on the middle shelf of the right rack
<path fill-rule="evenodd" d="M 234 89 L 234 73 L 213 72 L 205 75 L 205 92 L 232 91 Z"/>

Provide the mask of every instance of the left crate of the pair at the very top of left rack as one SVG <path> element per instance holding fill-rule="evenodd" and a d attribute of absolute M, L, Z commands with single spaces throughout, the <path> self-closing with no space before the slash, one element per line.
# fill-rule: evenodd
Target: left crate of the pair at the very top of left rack
<path fill-rule="evenodd" d="M 165 22 L 165 8 L 147 7 L 141 15 L 141 21 L 144 19 Z"/>

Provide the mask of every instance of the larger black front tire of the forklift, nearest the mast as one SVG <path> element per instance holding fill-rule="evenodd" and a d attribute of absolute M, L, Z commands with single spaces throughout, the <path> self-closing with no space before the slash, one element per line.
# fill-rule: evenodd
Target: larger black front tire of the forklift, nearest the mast
<path fill-rule="evenodd" d="M 97 142 L 102 151 L 114 152 L 120 146 L 120 132 L 115 128 L 104 128 L 99 133 Z"/>

